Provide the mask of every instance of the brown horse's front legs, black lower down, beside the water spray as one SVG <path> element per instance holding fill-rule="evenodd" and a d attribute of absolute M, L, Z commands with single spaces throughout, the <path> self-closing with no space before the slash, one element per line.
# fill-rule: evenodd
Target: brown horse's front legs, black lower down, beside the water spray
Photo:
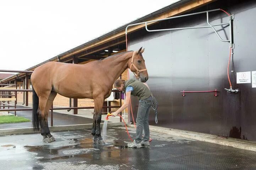
<path fill-rule="evenodd" d="M 104 102 L 104 96 L 97 96 L 94 98 L 94 116 L 93 116 L 93 126 L 92 135 L 94 135 L 93 141 L 97 140 L 98 144 L 103 144 L 104 141 L 100 135 L 100 122 L 101 122 L 101 112 Z"/>

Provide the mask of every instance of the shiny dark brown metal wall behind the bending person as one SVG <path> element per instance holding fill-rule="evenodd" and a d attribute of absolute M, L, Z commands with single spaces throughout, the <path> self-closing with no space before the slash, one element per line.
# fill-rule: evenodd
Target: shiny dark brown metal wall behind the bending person
<path fill-rule="evenodd" d="M 128 35 L 129 50 L 145 47 L 148 84 L 159 103 L 161 127 L 256 140 L 256 88 L 252 84 L 236 84 L 236 72 L 256 71 L 256 2 L 217 1 L 196 11 L 223 8 L 235 14 L 234 57 L 230 64 L 233 87 L 229 94 L 227 65 L 229 43 L 221 42 L 212 29 L 192 29 L 148 33 L 145 29 Z M 210 13 L 212 23 L 228 22 L 225 13 Z M 206 25 L 206 14 L 161 22 L 150 29 Z M 229 38 L 229 27 L 217 27 Z M 132 75 L 132 74 L 130 74 Z M 215 90 L 214 93 L 187 93 L 182 90 Z M 138 102 L 132 98 L 136 113 Z M 136 114 L 135 114 L 136 117 Z M 151 110 L 150 124 L 154 123 Z"/>

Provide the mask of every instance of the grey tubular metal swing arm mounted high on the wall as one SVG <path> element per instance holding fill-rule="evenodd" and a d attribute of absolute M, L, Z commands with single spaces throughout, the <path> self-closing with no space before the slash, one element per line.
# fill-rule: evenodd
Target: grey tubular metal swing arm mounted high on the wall
<path fill-rule="evenodd" d="M 208 10 L 208 11 L 202 11 L 202 12 L 196 12 L 196 13 L 190 13 L 190 14 L 185 14 L 185 15 L 180 15 L 180 16 L 175 16 L 175 17 L 170 17 L 170 18 L 164 18 L 164 19 L 157 19 L 157 20 L 151 20 L 151 21 L 146 21 L 146 22 L 141 22 L 141 23 L 136 23 L 136 24 L 130 24 L 127 25 L 126 29 L 125 29 L 125 34 L 127 35 L 127 29 L 128 27 L 131 26 L 135 26 L 135 25 L 140 25 L 140 24 L 145 24 L 145 28 L 148 32 L 156 32 L 156 31 L 170 31 L 170 30 L 181 30 L 181 29 L 196 29 L 196 28 L 212 28 L 213 31 L 216 33 L 216 35 L 218 36 L 218 38 L 220 39 L 220 41 L 223 42 L 229 42 L 229 47 L 234 48 L 234 44 L 233 44 L 233 37 L 232 37 L 232 31 L 233 31 L 233 25 L 232 25 L 232 20 L 234 19 L 234 14 L 229 16 L 229 22 L 226 23 L 219 23 L 219 24 L 210 24 L 209 23 L 209 12 L 213 12 L 213 11 L 223 11 L 221 9 L 215 9 L 215 10 Z M 152 23 L 152 22 L 159 22 L 159 21 L 163 21 L 163 20 L 168 20 L 168 19 L 174 19 L 174 18 L 180 18 L 180 17 L 186 17 L 186 16 L 191 16 L 191 15 L 196 15 L 196 14 L 201 14 L 201 13 L 206 13 L 206 22 L 208 24 L 208 26 L 203 26 L 203 27 L 184 27 L 184 28 L 169 28 L 169 29 L 157 29 L 157 30 L 149 30 L 148 29 L 148 23 Z M 223 40 L 220 35 L 218 34 L 218 32 L 216 31 L 216 29 L 214 28 L 215 26 L 218 25 L 229 25 L 229 35 L 230 35 L 230 39 L 229 40 Z M 126 44 L 127 46 L 127 44 Z"/>

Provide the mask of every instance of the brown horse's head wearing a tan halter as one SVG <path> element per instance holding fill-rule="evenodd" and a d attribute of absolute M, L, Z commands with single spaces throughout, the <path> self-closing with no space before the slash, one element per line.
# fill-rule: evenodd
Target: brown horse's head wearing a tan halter
<path fill-rule="evenodd" d="M 146 82 L 148 80 L 148 72 L 145 65 L 145 60 L 142 57 L 142 53 L 144 52 L 142 47 L 138 51 L 134 51 L 132 54 L 131 63 L 129 63 L 130 70 L 134 73 L 135 77 L 141 78 L 141 82 Z"/>

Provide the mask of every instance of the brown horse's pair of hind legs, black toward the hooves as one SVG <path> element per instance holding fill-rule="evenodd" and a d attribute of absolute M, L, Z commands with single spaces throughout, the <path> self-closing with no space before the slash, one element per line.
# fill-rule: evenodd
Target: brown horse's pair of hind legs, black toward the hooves
<path fill-rule="evenodd" d="M 39 122 L 41 135 L 43 136 L 43 142 L 51 142 L 48 138 L 52 137 L 48 126 L 48 112 L 51 107 L 52 101 L 56 96 L 56 92 L 47 91 L 44 95 L 39 96 Z M 52 138 L 53 139 L 53 138 Z"/>

